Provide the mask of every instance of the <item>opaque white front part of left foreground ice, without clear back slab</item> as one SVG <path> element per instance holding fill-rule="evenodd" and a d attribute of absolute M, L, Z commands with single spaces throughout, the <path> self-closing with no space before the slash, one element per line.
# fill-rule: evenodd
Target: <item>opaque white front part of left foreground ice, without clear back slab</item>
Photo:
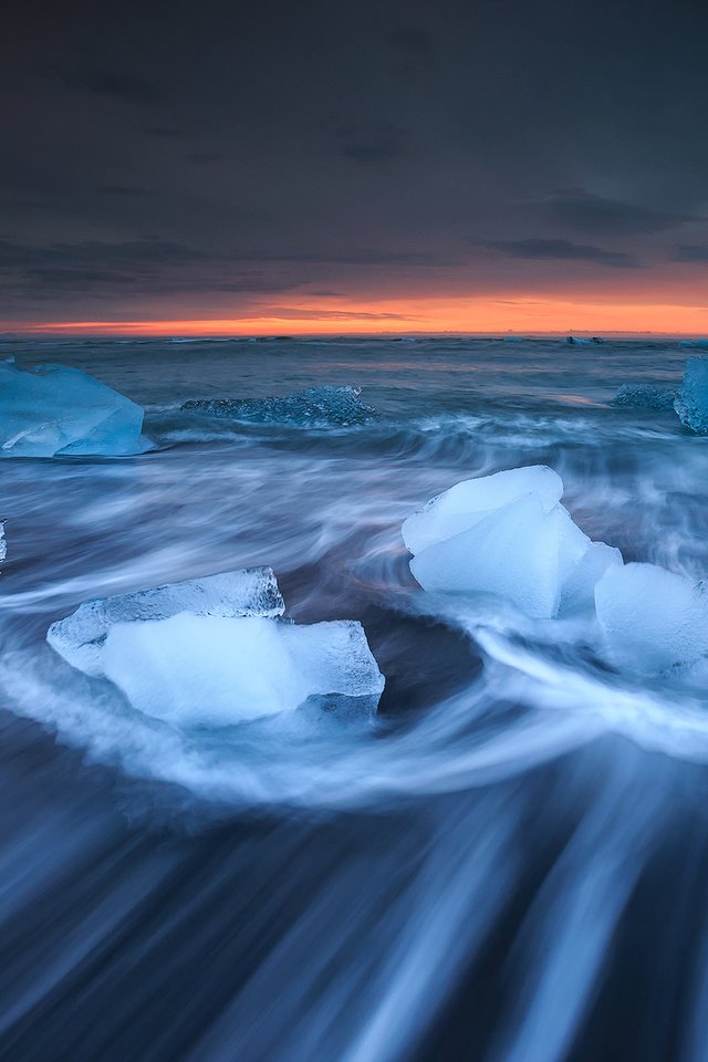
<path fill-rule="evenodd" d="M 118 623 L 104 666 L 134 708 L 183 727 L 293 711 L 309 697 L 375 697 L 384 679 L 361 624 L 180 613 Z"/>

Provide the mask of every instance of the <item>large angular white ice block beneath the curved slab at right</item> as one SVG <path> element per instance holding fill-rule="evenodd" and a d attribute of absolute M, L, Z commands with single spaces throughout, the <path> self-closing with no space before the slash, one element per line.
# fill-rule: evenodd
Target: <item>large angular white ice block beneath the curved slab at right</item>
<path fill-rule="evenodd" d="M 410 561 L 424 590 L 488 593 L 513 602 L 527 615 L 558 614 L 564 583 L 590 539 L 559 504 L 527 493 Z"/>

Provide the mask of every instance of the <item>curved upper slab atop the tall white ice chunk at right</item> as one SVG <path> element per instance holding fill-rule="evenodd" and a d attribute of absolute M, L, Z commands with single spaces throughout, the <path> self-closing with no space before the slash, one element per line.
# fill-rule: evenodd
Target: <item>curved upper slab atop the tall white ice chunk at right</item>
<path fill-rule="evenodd" d="M 563 480 L 545 465 L 510 468 L 479 479 L 466 479 L 431 498 L 405 521 L 402 533 L 406 548 L 420 553 L 427 546 L 450 539 L 475 527 L 490 512 L 516 501 L 523 494 L 539 496 L 544 512 L 560 500 Z"/>

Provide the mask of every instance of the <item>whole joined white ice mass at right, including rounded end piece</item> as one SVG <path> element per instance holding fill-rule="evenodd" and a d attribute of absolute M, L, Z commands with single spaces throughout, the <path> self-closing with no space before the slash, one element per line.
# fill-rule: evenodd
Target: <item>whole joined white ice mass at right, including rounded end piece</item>
<path fill-rule="evenodd" d="M 641 673 L 708 660 L 708 582 L 625 564 L 573 522 L 562 491 L 544 466 L 458 483 L 404 523 L 410 571 L 426 591 L 493 595 L 535 620 L 591 621 L 598 655 Z"/>

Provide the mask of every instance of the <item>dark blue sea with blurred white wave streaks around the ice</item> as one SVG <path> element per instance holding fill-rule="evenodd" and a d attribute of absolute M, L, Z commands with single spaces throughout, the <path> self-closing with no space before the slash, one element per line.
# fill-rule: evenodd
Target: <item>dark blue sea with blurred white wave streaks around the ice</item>
<path fill-rule="evenodd" d="M 707 1062 L 708 688 L 480 623 L 400 538 L 454 483 L 545 464 L 591 538 L 704 577 L 708 438 L 611 404 L 691 353 L 0 341 L 128 395 L 155 444 L 0 464 L 0 1059 Z M 216 398 L 253 405 L 180 409 Z M 296 621 L 363 623 L 373 726 L 185 737 L 45 643 L 86 598 L 253 565 Z"/>

